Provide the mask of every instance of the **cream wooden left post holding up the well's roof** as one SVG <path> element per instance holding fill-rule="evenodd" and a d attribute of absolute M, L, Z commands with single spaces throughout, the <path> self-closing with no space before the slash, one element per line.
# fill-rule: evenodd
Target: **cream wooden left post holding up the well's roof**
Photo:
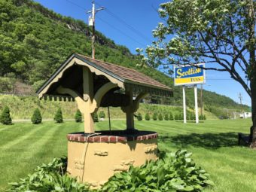
<path fill-rule="evenodd" d="M 93 117 L 90 113 L 90 105 L 93 101 L 93 74 L 90 69 L 83 67 L 83 99 L 84 110 L 81 111 L 84 114 L 84 133 L 94 133 Z"/>

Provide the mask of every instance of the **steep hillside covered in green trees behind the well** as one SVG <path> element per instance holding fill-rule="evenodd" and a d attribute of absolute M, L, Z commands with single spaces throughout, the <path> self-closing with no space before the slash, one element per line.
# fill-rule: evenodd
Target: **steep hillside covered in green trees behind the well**
<path fill-rule="evenodd" d="M 0 92 L 11 90 L 17 80 L 37 89 L 71 53 L 90 56 L 90 33 L 83 21 L 63 17 L 31 0 L 0 0 Z M 134 68 L 173 87 L 167 75 L 151 68 L 136 68 L 136 56 L 100 32 L 96 32 L 96 59 Z M 181 89 L 173 89 L 174 98 L 155 100 L 181 105 Z M 240 108 L 226 96 L 206 90 L 203 95 L 206 110 Z M 194 106 L 193 90 L 187 90 L 187 105 Z"/>

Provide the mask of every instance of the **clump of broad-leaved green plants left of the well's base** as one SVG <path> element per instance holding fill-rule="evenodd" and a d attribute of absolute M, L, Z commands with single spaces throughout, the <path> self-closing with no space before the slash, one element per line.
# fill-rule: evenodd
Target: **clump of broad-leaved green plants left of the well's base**
<path fill-rule="evenodd" d="M 52 192 L 87 192 L 88 184 L 78 183 L 76 178 L 66 175 L 66 158 L 55 158 L 48 164 L 38 166 L 31 175 L 11 183 L 10 192 L 52 191 Z"/>

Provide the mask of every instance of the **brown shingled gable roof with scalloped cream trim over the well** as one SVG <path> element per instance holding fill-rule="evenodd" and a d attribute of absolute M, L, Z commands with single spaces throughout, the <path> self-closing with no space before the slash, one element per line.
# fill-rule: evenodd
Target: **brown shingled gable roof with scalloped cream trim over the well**
<path fill-rule="evenodd" d="M 96 76 L 104 76 L 108 81 L 117 84 L 117 87 L 124 90 L 133 89 L 133 93 L 172 96 L 172 89 L 170 87 L 141 72 L 98 59 L 92 59 L 78 53 L 73 53 L 66 62 L 59 66 L 59 69 L 37 91 L 38 96 L 40 98 L 46 95 L 54 96 L 59 86 L 75 88 L 76 91 L 81 92 L 81 85 L 83 84 L 81 70 L 83 67 L 89 68 L 90 72 Z"/>

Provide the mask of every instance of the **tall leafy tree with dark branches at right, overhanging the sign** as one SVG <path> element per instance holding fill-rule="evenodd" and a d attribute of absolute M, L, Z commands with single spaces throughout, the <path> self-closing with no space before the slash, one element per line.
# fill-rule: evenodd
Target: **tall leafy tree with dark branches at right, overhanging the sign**
<path fill-rule="evenodd" d="M 149 66 L 205 62 L 228 72 L 251 96 L 251 147 L 256 147 L 255 0 L 172 0 L 160 5 L 163 23 L 146 48 Z M 140 50 L 139 50 L 140 51 Z M 217 65 L 218 64 L 218 65 Z"/>

